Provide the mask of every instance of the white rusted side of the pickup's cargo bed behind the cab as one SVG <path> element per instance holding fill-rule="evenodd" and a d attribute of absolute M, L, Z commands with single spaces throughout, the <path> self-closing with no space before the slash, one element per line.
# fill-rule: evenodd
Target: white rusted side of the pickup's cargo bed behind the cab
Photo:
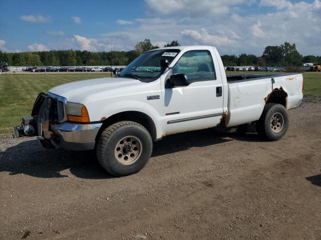
<path fill-rule="evenodd" d="M 300 73 L 227 76 L 228 114 L 226 126 L 236 126 L 260 118 L 272 92 L 285 97 L 286 109 L 302 101 L 303 77 Z"/>

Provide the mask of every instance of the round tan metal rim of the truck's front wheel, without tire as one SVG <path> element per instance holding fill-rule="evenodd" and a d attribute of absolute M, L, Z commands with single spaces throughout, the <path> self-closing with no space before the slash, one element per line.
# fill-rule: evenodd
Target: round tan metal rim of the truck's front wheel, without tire
<path fill-rule="evenodd" d="M 121 138 L 115 146 L 115 157 L 124 165 L 137 161 L 142 151 L 141 141 L 135 136 Z"/>

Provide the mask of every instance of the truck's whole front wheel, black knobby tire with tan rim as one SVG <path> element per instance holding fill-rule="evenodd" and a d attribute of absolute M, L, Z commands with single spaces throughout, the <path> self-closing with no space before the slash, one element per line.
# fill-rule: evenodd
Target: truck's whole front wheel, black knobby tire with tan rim
<path fill-rule="evenodd" d="M 114 176 L 138 172 L 147 164 L 151 151 L 149 132 L 133 121 L 108 126 L 99 136 L 96 147 L 99 163 Z"/>

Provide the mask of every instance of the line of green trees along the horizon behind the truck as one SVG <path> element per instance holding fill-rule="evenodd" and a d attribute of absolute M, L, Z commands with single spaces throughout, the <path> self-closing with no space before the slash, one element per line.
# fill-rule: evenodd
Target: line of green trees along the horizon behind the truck
<path fill-rule="evenodd" d="M 180 46 L 173 40 L 164 45 Z M 134 50 L 129 51 L 99 51 L 87 50 L 50 50 L 34 52 L 2 52 L 0 60 L 7 61 L 10 66 L 85 66 L 85 65 L 127 65 L 141 53 L 158 48 L 149 39 L 136 43 Z M 279 46 L 266 46 L 262 56 L 242 53 L 222 55 L 225 66 L 302 66 L 303 62 L 321 64 L 321 56 L 302 56 L 296 49 L 295 43 L 284 42 Z"/>

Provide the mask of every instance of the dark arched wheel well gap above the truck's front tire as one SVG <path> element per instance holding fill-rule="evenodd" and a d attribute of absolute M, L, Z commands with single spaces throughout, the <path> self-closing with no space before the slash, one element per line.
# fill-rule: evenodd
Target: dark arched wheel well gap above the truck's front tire
<path fill-rule="evenodd" d="M 118 122 L 118 121 L 134 121 L 137 122 L 141 125 L 143 125 L 147 131 L 149 132 L 151 139 L 155 140 L 156 139 L 156 126 L 153 122 L 153 120 L 145 113 L 140 112 L 140 111 L 123 111 L 116 113 L 105 120 L 102 121 L 102 126 L 100 127 L 97 137 L 100 136 L 100 133 L 108 126 L 111 124 Z"/>

